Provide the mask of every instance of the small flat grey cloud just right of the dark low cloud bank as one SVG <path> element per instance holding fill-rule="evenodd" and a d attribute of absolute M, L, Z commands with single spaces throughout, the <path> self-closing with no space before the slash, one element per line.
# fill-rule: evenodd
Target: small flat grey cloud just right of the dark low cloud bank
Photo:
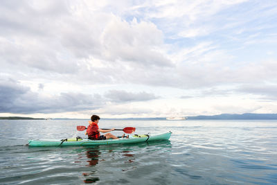
<path fill-rule="evenodd" d="M 105 97 L 109 98 L 109 100 L 114 101 L 116 103 L 147 101 L 147 100 L 154 100 L 158 98 L 154 94 L 150 94 L 146 92 L 132 93 L 132 92 L 120 91 L 120 90 L 110 90 L 109 92 L 107 92 L 107 94 L 105 94 Z"/>

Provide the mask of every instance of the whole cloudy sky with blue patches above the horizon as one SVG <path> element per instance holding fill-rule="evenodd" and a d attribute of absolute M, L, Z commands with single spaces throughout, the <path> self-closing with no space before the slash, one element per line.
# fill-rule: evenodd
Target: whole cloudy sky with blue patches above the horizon
<path fill-rule="evenodd" d="M 0 116 L 277 113 L 277 1 L 0 1 Z"/>

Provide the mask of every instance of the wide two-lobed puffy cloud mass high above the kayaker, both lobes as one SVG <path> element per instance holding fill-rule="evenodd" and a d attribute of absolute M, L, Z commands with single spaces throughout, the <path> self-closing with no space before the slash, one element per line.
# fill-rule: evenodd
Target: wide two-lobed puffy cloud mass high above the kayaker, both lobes
<path fill-rule="evenodd" d="M 151 22 L 138 22 L 135 18 L 128 22 L 115 15 L 97 12 L 87 18 L 89 22 L 72 19 L 60 30 L 62 45 L 76 58 L 96 58 L 116 64 L 129 62 L 137 66 L 172 66 L 159 50 L 163 34 Z"/>

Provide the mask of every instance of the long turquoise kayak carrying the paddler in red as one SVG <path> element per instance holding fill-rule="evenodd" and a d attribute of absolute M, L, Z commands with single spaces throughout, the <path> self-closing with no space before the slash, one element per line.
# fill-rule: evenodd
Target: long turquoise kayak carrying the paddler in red
<path fill-rule="evenodd" d="M 28 146 L 100 146 L 111 144 L 127 144 L 127 143 L 143 143 L 148 141 L 159 141 L 170 139 L 172 132 L 167 132 L 158 135 L 134 134 L 129 135 L 129 138 L 91 140 L 81 139 L 80 137 L 71 139 L 39 139 L 29 140 Z"/>

